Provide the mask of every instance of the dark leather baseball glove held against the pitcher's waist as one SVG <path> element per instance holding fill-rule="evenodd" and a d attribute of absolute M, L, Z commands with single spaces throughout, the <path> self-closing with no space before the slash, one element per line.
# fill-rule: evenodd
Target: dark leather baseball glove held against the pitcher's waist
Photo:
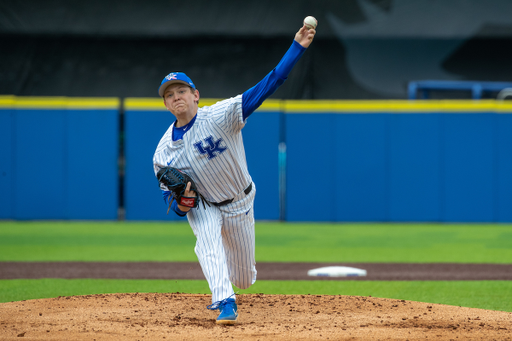
<path fill-rule="evenodd" d="M 167 214 L 169 214 L 169 210 L 174 200 L 178 202 L 179 205 L 186 207 L 197 207 L 199 201 L 203 201 L 203 207 L 206 209 L 205 202 L 208 206 L 210 204 L 208 201 L 197 191 L 196 184 L 194 180 L 186 174 L 180 171 L 177 168 L 173 167 L 163 167 L 161 168 L 157 174 L 158 182 L 166 186 L 169 191 L 172 193 L 172 199 L 169 202 L 169 208 L 167 208 Z M 190 190 L 196 192 L 196 197 L 186 197 L 184 196 L 185 189 L 187 188 L 187 184 L 190 182 Z"/>

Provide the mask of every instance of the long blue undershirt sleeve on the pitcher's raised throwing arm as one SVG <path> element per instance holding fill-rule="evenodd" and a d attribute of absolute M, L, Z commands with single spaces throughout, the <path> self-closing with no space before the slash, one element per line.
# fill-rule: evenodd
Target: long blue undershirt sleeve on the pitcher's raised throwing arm
<path fill-rule="evenodd" d="M 270 71 L 258 84 L 242 94 L 242 114 L 244 120 L 284 83 L 290 71 L 292 71 L 295 64 L 304 54 L 304 51 L 306 51 L 306 48 L 294 40 L 292 46 L 290 46 L 276 68 Z"/>

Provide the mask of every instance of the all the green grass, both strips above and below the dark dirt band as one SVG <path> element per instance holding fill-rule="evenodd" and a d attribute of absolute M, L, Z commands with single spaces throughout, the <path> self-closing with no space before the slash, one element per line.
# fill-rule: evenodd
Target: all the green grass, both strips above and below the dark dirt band
<path fill-rule="evenodd" d="M 197 261 L 186 223 L 0 222 L 0 261 Z M 256 224 L 258 262 L 512 263 L 510 224 Z M 206 281 L 1 280 L 0 302 L 209 293 Z M 512 311 L 512 281 L 257 281 L 240 293 L 361 295 Z"/>

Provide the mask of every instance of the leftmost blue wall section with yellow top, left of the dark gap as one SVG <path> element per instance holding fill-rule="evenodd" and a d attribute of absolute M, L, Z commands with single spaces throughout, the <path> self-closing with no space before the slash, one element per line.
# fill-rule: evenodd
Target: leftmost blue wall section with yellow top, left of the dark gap
<path fill-rule="evenodd" d="M 118 99 L 2 96 L 0 122 L 0 219 L 117 219 Z"/>

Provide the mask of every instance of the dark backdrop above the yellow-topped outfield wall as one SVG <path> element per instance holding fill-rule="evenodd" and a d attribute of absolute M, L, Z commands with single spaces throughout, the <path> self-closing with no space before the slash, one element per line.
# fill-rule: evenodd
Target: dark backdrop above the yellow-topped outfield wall
<path fill-rule="evenodd" d="M 405 99 L 412 80 L 511 81 L 509 13 L 507 0 L 0 0 L 0 94 L 155 97 L 184 71 L 202 97 L 234 96 L 313 15 L 315 41 L 273 98 Z"/>

